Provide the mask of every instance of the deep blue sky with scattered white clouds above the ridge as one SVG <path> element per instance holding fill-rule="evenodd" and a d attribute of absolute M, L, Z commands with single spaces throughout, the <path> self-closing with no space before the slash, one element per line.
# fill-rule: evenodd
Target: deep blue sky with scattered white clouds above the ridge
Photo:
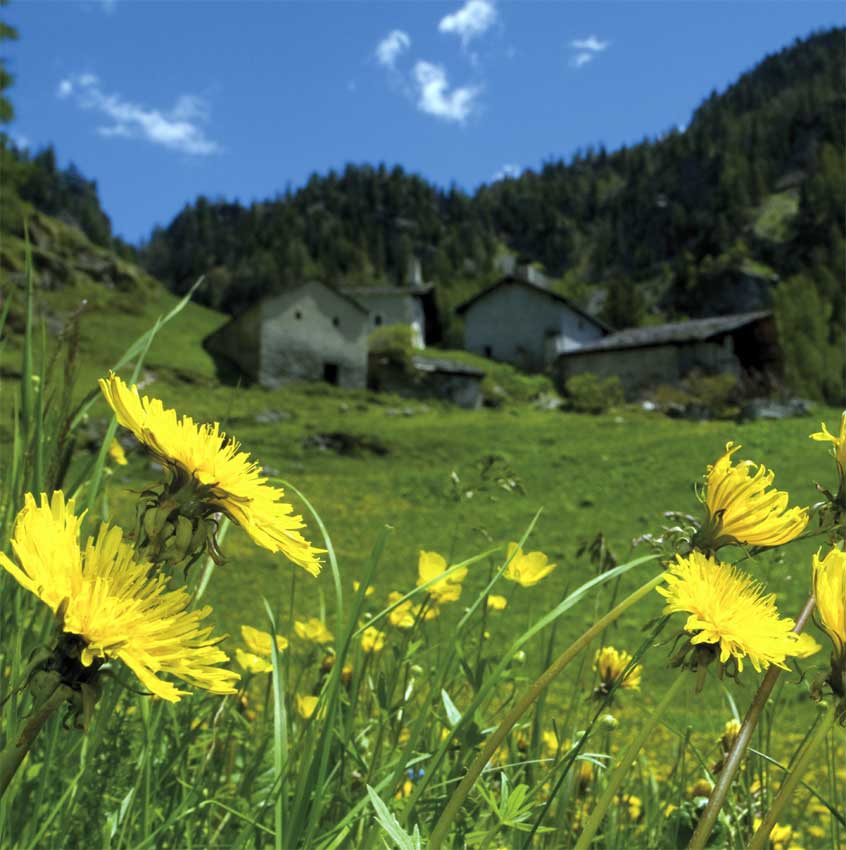
<path fill-rule="evenodd" d="M 52 142 L 136 242 L 197 195 L 252 200 L 347 162 L 447 186 L 684 126 L 764 55 L 846 23 L 813 2 L 43 2 L 10 133 Z"/>

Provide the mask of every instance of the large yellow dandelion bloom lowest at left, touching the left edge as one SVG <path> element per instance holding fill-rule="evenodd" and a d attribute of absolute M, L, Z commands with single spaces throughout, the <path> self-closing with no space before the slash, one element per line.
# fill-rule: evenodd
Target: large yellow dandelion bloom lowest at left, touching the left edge
<path fill-rule="evenodd" d="M 64 494 L 27 493 L 12 537 L 17 564 L 0 553 L 0 564 L 54 612 L 61 612 L 64 650 L 78 650 L 89 677 L 109 658 L 119 658 L 149 691 L 176 702 L 187 691 L 158 677 L 168 673 L 212 693 L 235 693 L 238 674 L 219 664 L 228 658 L 209 626 L 211 613 L 189 611 L 191 597 L 169 590 L 163 574 L 136 561 L 121 530 L 101 524 L 80 546 L 82 516 Z M 68 684 L 71 684 L 68 682 Z"/>

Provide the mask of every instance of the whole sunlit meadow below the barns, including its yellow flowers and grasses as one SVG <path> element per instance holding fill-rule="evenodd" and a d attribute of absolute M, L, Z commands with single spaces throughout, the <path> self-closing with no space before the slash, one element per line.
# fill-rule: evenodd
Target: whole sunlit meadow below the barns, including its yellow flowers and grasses
<path fill-rule="evenodd" d="M 184 304 L 101 369 L 28 299 L 0 387 L 2 846 L 842 845 L 839 411 L 292 388 L 257 424 L 254 390 L 135 389 Z M 303 448 L 337 419 L 386 456 Z"/>

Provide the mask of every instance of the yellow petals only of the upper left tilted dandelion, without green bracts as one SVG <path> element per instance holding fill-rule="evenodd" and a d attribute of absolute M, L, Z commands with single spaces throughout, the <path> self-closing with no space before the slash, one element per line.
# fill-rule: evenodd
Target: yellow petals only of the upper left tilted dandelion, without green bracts
<path fill-rule="evenodd" d="M 166 467 L 177 485 L 199 490 L 204 515 L 223 512 L 259 545 L 282 552 L 312 575 L 320 572 L 316 549 L 300 529 L 302 517 L 282 501 L 284 492 L 271 486 L 259 465 L 239 444 L 214 425 L 196 425 L 190 416 L 177 418 L 158 399 L 143 398 L 113 372 L 100 379 L 100 389 L 117 416 L 136 439 Z M 196 502 L 197 499 L 195 498 Z"/>

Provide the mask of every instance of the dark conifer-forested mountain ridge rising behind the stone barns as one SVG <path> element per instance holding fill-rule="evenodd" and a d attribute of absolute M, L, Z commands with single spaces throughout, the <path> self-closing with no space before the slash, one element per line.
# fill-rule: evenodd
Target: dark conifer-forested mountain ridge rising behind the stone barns
<path fill-rule="evenodd" d="M 844 66 L 846 30 L 813 34 L 712 93 L 684 130 L 589 147 L 473 195 L 398 166 L 349 165 L 250 206 L 201 197 L 138 257 L 177 293 L 206 275 L 200 300 L 229 312 L 308 276 L 402 284 L 418 257 L 449 317 L 503 251 L 541 263 L 553 287 L 615 326 L 772 298 L 789 380 L 839 398 Z M 4 157 L 24 201 L 131 252 L 112 238 L 96 186 L 57 171 L 52 151 Z"/>

